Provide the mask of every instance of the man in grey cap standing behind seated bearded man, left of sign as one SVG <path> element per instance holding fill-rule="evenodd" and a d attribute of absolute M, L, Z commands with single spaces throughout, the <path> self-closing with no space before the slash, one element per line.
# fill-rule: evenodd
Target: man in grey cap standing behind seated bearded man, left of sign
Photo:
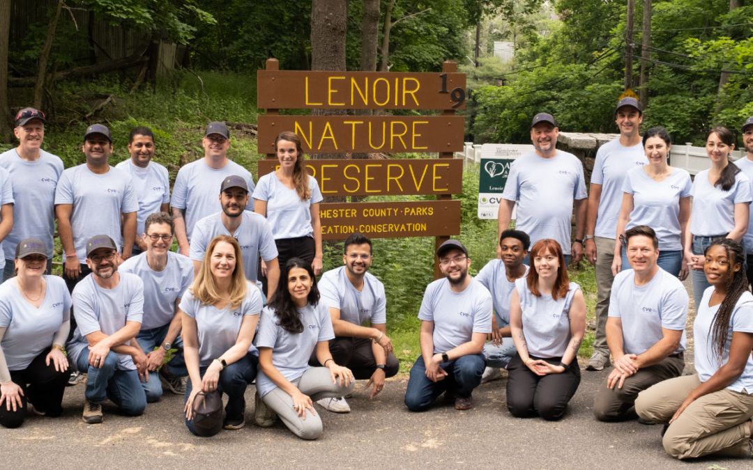
<path fill-rule="evenodd" d="M 209 123 L 201 142 L 204 158 L 184 165 L 172 186 L 170 205 L 175 217 L 175 238 L 178 238 L 179 253 L 184 256 L 191 253 L 191 238 L 197 222 L 221 210 L 215 191 L 222 180 L 239 175 L 245 180 L 248 193 L 253 193 L 256 187 L 251 172 L 227 158 L 230 132 L 225 123 Z M 254 210 L 253 199 L 249 210 Z"/>

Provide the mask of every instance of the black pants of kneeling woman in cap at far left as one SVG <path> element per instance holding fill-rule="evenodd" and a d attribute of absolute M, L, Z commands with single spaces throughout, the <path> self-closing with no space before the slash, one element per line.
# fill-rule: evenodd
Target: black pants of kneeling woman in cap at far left
<path fill-rule="evenodd" d="M 36 356 L 29 366 L 23 370 L 11 371 L 11 381 L 21 387 L 21 407 L 16 411 L 8 411 L 5 402 L 0 406 L 0 425 L 6 428 L 17 428 L 23 424 L 26 417 L 26 403 L 32 402 L 37 411 L 45 416 L 59 417 L 62 414 L 62 394 L 70 378 L 70 372 L 55 370 L 55 364 L 45 364 L 50 347 Z M 28 384 L 28 385 L 27 385 Z"/>

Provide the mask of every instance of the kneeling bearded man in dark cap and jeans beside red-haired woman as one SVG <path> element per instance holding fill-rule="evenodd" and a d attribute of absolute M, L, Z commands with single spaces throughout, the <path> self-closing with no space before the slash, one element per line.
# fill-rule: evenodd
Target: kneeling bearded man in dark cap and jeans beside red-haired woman
<path fill-rule="evenodd" d="M 405 405 L 424 411 L 442 393 L 456 410 L 473 408 L 486 367 L 483 344 L 492 332 L 492 295 L 468 275 L 471 259 L 457 240 L 437 250 L 443 279 L 426 287 L 419 320 L 421 356 L 410 369 Z"/>

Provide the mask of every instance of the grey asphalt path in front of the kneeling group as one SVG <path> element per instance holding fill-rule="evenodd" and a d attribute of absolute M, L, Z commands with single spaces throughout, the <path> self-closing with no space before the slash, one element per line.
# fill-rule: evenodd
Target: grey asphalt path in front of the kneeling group
<path fill-rule="evenodd" d="M 691 317 L 694 311 L 691 309 Z M 692 325 L 691 321 L 688 322 Z M 692 338 L 688 338 L 692 346 Z M 693 371 L 687 354 L 685 373 Z M 583 359 L 581 359 L 583 365 Z M 246 391 L 246 426 L 212 438 L 191 435 L 181 414 L 183 397 L 167 394 L 141 417 L 126 417 L 110 402 L 102 424 L 81 420 L 84 385 L 69 387 L 59 418 L 30 416 L 19 429 L 0 428 L 4 468 L 599 468 L 753 469 L 753 460 L 706 457 L 680 462 L 661 445 L 661 426 L 637 420 L 600 423 L 591 407 L 607 371 L 583 371 L 581 386 L 558 422 L 512 417 L 503 378 L 474 392 L 475 407 L 456 411 L 443 397 L 424 413 L 403 404 L 407 376 L 390 379 L 377 399 L 359 382 L 352 412 L 322 413 L 324 435 L 303 441 L 276 422 L 253 424 L 255 387 Z M 714 466 L 717 465 L 717 466 Z"/>

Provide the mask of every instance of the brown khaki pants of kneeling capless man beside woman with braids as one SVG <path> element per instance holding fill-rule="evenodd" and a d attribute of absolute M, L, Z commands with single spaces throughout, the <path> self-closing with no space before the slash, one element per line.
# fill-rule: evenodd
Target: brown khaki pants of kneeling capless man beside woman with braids
<path fill-rule="evenodd" d="M 622 417 L 638 398 L 638 394 L 654 384 L 679 377 L 685 368 L 684 359 L 667 357 L 657 364 L 639 369 L 635 374 L 625 379 L 622 388 L 607 387 L 609 376 L 604 378 L 596 400 L 593 403 L 593 415 L 599 421 L 617 420 Z M 614 370 L 614 369 L 612 369 Z"/>

